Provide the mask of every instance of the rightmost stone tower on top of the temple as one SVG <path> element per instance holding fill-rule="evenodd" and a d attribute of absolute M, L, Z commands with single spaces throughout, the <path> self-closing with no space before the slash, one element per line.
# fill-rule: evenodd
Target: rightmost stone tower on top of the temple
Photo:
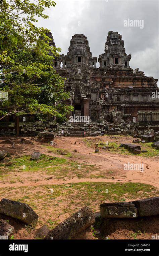
<path fill-rule="evenodd" d="M 105 53 L 99 55 L 100 67 L 123 66 L 129 67 L 131 54 L 126 55 L 124 41 L 118 32 L 109 31 L 105 43 Z"/>

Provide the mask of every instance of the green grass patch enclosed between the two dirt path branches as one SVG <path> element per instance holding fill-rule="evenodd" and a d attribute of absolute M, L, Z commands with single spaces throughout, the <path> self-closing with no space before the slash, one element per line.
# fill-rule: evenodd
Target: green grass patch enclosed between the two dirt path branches
<path fill-rule="evenodd" d="M 79 166 L 81 166 L 81 169 L 79 169 Z M 11 171 L 17 171 L 17 176 L 13 178 L 12 175 L 9 174 Z M 62 179 L 64 177 L 80 179 L 86 177 L 98 178 L 98 173 L 96 175 L 94 172 L 99 170 L 95 165 L 86 165 L 84 163 L 79 164 L 76 161 L 42 154 L 38 160 L 30 160 L 30 156 L 13 158 L 11 166 L 6 166 L 5 168 L 2 167 L 0 169 L 0 176 L 2 180 L 9 177 L 10 183 L 16 183 L 17 181 L 22 182 L 21 172 L 24 171 L 39 171 L 46 175 L 50 175 L 54 179 Z M 100 175 L 100 177 L 103 176 Z M 30 178 L 31 177 L 29 177 L 29 179 Z M 46 177 L 46 180 L 47 179 L 49 180 L 49 178 Z"/>

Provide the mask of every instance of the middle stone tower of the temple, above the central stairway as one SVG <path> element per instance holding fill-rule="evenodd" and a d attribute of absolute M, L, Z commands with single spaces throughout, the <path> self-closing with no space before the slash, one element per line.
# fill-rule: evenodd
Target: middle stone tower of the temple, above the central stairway
<path fill-rule="evenodd" d="M 87 37 L 83 34 L 75 34 L 70 40 L 67 55 L 61 55 L 63 67 L 70 67 L 72 64 L 88 64 L 96 67 L 97 57 L 92 57 Z"/>

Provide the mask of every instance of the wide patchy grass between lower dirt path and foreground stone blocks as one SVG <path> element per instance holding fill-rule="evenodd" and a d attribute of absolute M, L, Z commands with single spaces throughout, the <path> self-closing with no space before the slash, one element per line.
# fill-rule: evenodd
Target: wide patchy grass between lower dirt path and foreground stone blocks
<path fill-rule="evenodd" d="M 1 198 L 29 204 L 39 215 L 40 225 L 47 224 L 50 228 L 60 222 L 60 216 L 65 219 L 84 206 L 89 206 L 95 212 L 99 211 L 99 205 L 103 202 L 121 202 L 152 196 L 158 196 L 155 187 L 131 182 L 82 182 L 0 189 Z"/>

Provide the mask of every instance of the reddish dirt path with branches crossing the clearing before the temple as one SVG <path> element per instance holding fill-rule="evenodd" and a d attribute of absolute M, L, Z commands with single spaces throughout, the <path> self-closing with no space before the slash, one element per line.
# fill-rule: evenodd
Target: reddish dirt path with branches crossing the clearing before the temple
<path fill-rule="evenodd" d="M 90 139 L 94 140 L 103 140 L 106 139 L 111 141 L 120 142 L 132 142 L 132 137 L 103 137 L 98 136 L 96 138 L 91 137 Z M 74 142 L 76 141 L 76 144 Z M 31 154 L 35 150 L 39 150 L 41 153 L 50 155 L 50 156 L 58 156 L 61 158 L 67 158 L 69 160 L 77 161 L 78 163 L 85 163 L 89 165 L 96 165 L 102 174 L 105 174 L 108 177 L 108 171 L 112 171 L 109 175 L 110 179 L 105 178 L 73 178 L 64 180 L 46 180 L 41 176 L 40 181 L 26 182 L 20 183 L 0 183 L 0 188 L 5 187 L 23 187 L 23 186 L 37 186 L 37 185 L 54 185 L 54 184 L 68 184 L 68 183 L 78 183 L 78 182 L 140 182 L 145 184 L 153 185 L 159 188 L 159 157 L 151 157 L 144 158 L 137 155 L 121 155 L 109 152 L 107 150 L 100 149 L 98 154 L 94 153 L 94 148 L 86 146 L 85 142 L 82 138 L 71 138 L 71 137 L 56 137 L 55 143 L 56 147 L 60 149 L 67 150 L 71 152 L 72 158 L 68 158 L 63 155 L 55 155 L 53 153 L 48 153 L 47 147 L 41 147 L 40 142 L 34 142 L 34 145 L 26 145 L 22 147 L 21 145 L 16 145 L 16 150 L 11 149 L 9 145 L 4 145 L 5 150 L 9 150 L 10 153 L 18 156 L 18 155 L 28 155 Z M 77 152 L 74 152 L 74 150 Z M 140 171 L 131 171 L 124 170 L 125 163 L 143 163 L 144 164 L 144 172 Z M 28 175 L 26 173 L 26 175 Z M 37 174 L 38 175 L 38 174 Z M 112 176 L 111 176 L 112 175 Z M 35 177 L 36 178 L 36 177 Z M 39 177 L 38 177 L 39 178 Z M 109 177 L 108 177 L 109 178 Z"/>

